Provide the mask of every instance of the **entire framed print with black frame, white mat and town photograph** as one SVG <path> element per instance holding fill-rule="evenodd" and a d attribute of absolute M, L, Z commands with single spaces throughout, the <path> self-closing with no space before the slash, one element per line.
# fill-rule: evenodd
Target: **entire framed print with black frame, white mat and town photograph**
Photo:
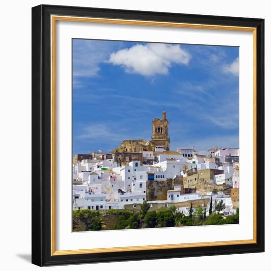
<path fill-rule="evenodd" d="M 264 20 L 32 9 L 32 259 L 264 251 Z"/>

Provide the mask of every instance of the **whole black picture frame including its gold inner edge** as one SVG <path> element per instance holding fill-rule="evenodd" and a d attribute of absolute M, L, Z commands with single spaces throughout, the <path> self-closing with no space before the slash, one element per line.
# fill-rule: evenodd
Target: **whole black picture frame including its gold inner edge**
<path fill-rule="evenodd" d="M 57 250 L 56 23 L 238 31 L 253 34 L 253 238 Z M 104 37 L 106 39 L 106 37 Z M 32 263 L 70 265 L 264 252 L 264 19 L 39 5 L 32 8 Z M 101 233 L 102 234 L 102 233 Z"/>

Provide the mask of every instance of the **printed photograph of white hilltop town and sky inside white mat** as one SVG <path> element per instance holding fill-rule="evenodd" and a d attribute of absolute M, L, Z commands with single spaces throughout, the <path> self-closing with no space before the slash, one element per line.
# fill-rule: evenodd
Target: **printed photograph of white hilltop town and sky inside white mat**
<path fill-rule="evenodd" d="M 239 47 L 71 42 L 72 232 L 239 224 Z"/>

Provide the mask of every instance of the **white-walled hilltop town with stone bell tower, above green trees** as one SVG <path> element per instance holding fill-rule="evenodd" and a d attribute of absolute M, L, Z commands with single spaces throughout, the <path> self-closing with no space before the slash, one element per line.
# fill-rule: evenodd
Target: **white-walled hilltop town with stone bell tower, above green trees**
<path fill-rule="evenodd" d="M 136 214 L 147 204 L 148 211 L 174 206 L 174 212 L 183 217 L 192 217 L 192 212 L 200 209 L 204 218 L 217 213 L 225 219 L 238 212 L 238 190 L 239 149 L 170 150 L 165 111 L 161 119 L 152 121 L 151 140 L 124 140 L 110 153 L 73 157 L 74 211 L 127 210 Z"/>

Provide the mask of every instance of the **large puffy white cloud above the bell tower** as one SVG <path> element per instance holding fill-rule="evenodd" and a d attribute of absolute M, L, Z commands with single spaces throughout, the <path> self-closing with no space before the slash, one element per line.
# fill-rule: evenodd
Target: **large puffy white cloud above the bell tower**
<path fill-rule="evenodd" d="M 110 54 L 107 63 L 120 65 L 126 72 L 144 76 L 168 74 L 172 64 L 189 63 L 191 56 L 180 45 L 148 43 L 136 44 Z"/>

